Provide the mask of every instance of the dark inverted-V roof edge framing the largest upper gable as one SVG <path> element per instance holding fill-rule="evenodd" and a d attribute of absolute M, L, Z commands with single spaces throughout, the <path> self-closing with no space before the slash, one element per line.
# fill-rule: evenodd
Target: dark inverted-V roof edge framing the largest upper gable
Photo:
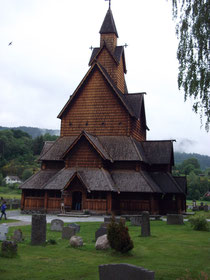
<path fill-rule="evenodd" d="M 133 111 L 130 103 L 128 102 L 128 99 L 126 98 L 126 96 L 117 88 L 117 86 L 115 85 L 114 81 L 111 79 L 111 77 L 109 76 L 109 74 L 107 73 L 107 71 L 105 70 L 105 68 L 99 63 L 99 62 L 95 62 L 92 67 L 88 70 L 88 72 L 86 73 L 85 77 L 82 79 L 82 81 L 80 82 L 79 86 L 76 88 L 76 90 L 74 91 L 74 93 L 71 95 L 70 99 L 68 100 L 68 102 L 65 104 L 65 106 L 63 107 L 62 111 L 60 112 L 60 114 L 58 115 L 58 118 L 62 118 L 62 115 L 66 112 L 66 110 L 69 108 L 70 104 L 72 103 L 73 99 L 75 98 L 75 96 L 79 93 L 79 90 L 82 88 L 82 86 L 84 85 L 85 81 L 88 79 L 89 75 L 92 73 L 92 71 L 94 71 L 95 69 L 98 69 L 101 74 L 103 75 L 103 77 L 105 78 L 105 80 L 108 82 L 108 84 L 110 85 L 110 87 L 113 89 L 114 93 L 116 94 L 116 97 L 121 101 L 121 103 L 123 104 L 123 106 L 125 107 L 125 109 L 128 111 L 128 113 L 132 116 L 132 117 L 136 117 L 136 112 Z"/>

